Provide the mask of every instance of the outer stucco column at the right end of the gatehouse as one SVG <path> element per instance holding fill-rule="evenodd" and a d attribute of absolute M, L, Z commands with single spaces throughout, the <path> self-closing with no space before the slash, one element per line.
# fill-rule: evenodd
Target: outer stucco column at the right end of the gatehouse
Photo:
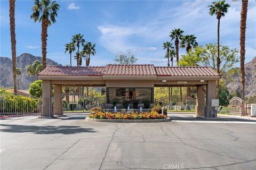
<path fill-rule="evenodd" d="M 205 106 L 205 117 L 212 117 L 214 115 L 214 107 L 212 107 L 212 99 L 216 99 L 216 81 L 208 81 L 206 85 L 206 106 Z"/>

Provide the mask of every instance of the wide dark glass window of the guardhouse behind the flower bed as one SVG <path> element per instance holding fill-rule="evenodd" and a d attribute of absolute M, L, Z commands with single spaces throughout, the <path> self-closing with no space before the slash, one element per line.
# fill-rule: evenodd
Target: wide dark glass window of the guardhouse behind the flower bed
<path fill-rule="evenodd" d="M 108 88 L 108 103 L 117 101 L 123 103 L 124 101 L 137 100 L 143 103 L 145 100 L 152 102 L 152 88 Z"/>

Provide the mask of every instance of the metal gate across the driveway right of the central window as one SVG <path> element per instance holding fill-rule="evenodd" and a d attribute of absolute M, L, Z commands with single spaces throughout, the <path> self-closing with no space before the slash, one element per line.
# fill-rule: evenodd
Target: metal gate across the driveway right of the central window
<path fill-rule="evenodd" d="M 165 96 L 155 99 L 156 105 L 162 105 L 169 112 L 195 112 L 196 99 L 189 96 Z"/>

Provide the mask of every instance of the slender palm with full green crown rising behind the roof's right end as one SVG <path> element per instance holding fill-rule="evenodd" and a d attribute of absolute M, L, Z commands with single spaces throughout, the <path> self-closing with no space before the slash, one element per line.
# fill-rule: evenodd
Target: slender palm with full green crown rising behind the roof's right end
<path fill-rule="evenodd" d="M 220 74 L 220 19 L 222 16 L 228 12 L 229 4 L 225 4 L 226 1 L 217 1 L 213 2 L 212 5 L 209 5 L 210 15 L 216 15 L 218 20 L 218 56 L 217 56 L 217 73 Z M 220 81 L 217 80 L 217 88 L 216 88 L 216 98 L 219 96 L 219 85 Z"/>

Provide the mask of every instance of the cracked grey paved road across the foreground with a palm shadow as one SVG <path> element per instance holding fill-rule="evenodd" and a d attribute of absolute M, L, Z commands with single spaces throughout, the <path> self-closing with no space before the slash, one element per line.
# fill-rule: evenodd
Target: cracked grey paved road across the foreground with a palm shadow
<path fill-rule="evenodd" d="M 1 120 L 4 169 L 255 169 L 256 124 Z"/>

